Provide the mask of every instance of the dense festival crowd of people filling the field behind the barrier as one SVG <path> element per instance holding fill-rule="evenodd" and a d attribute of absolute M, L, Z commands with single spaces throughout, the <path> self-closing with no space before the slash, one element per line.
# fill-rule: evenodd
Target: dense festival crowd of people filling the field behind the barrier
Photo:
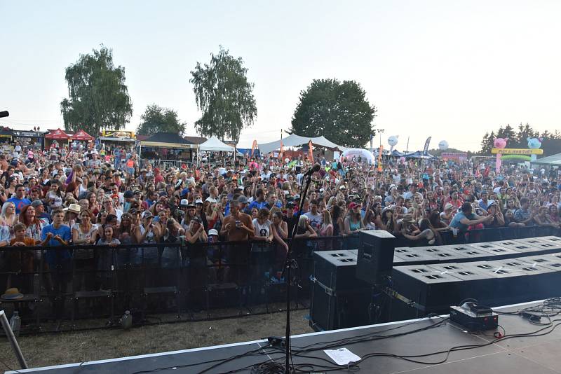
<path fill-rule="evenodd" d="M 228 166 L 159 169 L 139 165 L 133 148 L 79 144 L 43 151 L 15 144 L 0 155 L 0 247 L 117 248 L 109 259 L 91 247 L 45 251 L 51 270 L 68 268 L 71 259 L 81 269 L 108 263 L 166 268 L 189 260 L 173 249 L 140 244 L 232 242 L 226 254 L 209 255 L 209 261 L 227 263 L 235 260 L 239 243 L 250 241 L 271 248 L 273 270 L 280 270 L 293 230 L 295 238 L 320 237 L 318 248 L 331 249 L 336 244 L 329 238 L 356 237 L 360 230 L 386 230 L 432 245 L 442 244 L 445 230 L 463 235 L 478 228 L 560 228 L 557 169 L 506 164 L 496 173 L 490 163 L 469 160 L 383 162 L 377 167 L 327 160 L 320 153 L 313 162 L 265 155 Z M 313 163 L 320 169 L 301 196 Z M 121 250 L 120 244 L 139 247 Z M 0 271 L 32 270 L 41 253 L 0 249 Z M 65 286 L 52 283 L 51 290 Z M 95 279 L 79 283 L 104 286 Z"/>

